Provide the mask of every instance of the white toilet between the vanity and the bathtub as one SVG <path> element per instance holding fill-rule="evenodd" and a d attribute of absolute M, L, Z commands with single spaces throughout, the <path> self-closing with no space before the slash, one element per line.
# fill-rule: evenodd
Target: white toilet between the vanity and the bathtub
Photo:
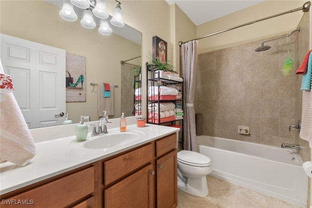
<path fill-rule="evenodd" d="M 181 150 L 177 153 L 178 188 L 189 194 L 208 195 L 206 176 L 213 171 L 209 157 L 194 151 Z"/>

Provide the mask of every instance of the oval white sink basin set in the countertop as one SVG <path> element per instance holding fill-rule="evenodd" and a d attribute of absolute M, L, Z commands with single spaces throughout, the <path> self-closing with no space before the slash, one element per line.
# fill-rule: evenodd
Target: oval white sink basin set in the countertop
<path fill-rule="evenodd" d="M 144 136 L 143 132 L 112 132 L 101 134 L 98 138 L 86 142 L 83 147 L 88 149 L 104 149 L 115 146 L 123 146 L 139 140 Z"/>

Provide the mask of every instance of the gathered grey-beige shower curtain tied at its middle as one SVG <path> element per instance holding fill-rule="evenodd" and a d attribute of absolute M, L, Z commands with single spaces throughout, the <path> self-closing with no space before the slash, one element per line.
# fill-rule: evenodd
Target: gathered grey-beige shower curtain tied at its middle
<path fill-rule="evenodd" d="M 196 125 L 195 125 L 195 78 L 197 66 L 198 41 L 189 41 L 181 45 L 181 61 L 184 79 L 184 123 L 183 123 L 183 149 L 196 151 Z"/>

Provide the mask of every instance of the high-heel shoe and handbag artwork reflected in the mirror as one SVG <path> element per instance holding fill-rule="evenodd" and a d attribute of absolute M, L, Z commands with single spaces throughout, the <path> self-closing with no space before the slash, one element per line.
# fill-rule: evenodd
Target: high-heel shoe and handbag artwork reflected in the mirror
<path fill-rule="evenodd" d="M 66 53 L 66 103 L 86 102 L 86 58 Z"/>

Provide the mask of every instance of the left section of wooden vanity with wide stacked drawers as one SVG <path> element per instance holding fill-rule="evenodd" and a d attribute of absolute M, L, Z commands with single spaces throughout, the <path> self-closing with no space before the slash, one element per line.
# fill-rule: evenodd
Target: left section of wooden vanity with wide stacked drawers
<path fill-rule="evenodd" d="M 94 208 L 95 170 L 85 166 L 1 195 L 1 208 Z"/>

